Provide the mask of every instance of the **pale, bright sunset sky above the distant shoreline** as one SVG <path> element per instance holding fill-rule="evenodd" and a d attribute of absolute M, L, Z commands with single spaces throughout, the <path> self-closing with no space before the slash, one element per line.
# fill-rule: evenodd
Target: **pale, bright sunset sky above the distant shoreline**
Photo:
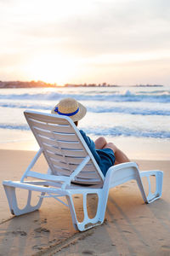
<path fill-rule="evenodd" d="M 169 0 L 0 0 L 0 80 L 170 86 Z"/>

